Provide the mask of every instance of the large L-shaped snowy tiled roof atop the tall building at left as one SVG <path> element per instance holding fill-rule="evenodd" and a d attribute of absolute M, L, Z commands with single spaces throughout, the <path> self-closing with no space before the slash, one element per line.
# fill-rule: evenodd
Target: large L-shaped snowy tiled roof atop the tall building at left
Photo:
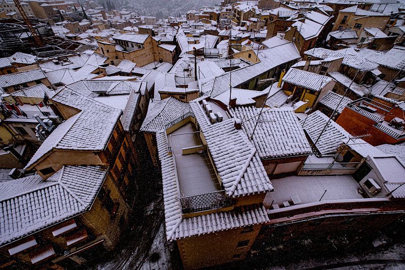
<path fill-rule="evenodd" d="M 121 115 L 121 110 L 82 96 L 67 87 L 61 89 L 51 100 L 80 112 L 60 124 L 50 134 L 25 168 L 31 168 L 52 149 L 103 150 Z"/>

